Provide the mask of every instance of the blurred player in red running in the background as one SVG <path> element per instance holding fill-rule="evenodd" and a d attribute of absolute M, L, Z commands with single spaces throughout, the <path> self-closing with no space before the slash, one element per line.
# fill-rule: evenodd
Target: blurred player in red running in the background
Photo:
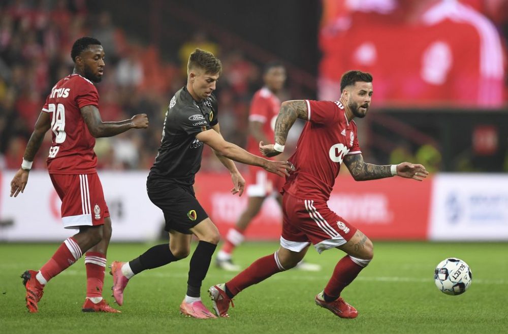
<path fill-rule="evenodd" d="M 280 100 L 277 97 L 277 93 L 284 87 L 285 80 L 286 72 L 281 63 L 270 62 L 265 65 L 263 71 L 265 85 L 252 97 L 249 110 L 250 136 L 248 137 L 247 151 L 252 154 L 261 155 L 259 142 L 268 143 L 269 139 L 274 136 L 275 119 L 280 109 Z M 282 206 L 282 196 L 279 192 L 284 184 L 283 178 L 269 174 L 256 166 L 250 166 L 249 174 L 250 184 L 247 186 L 247 208 L 238 218 L 235 227 L 229 229 L 224 245 L 216 258 L 218 268 L 227 271 L 240 270 L 240 267 L 233 263 L 233 251 L 235 247 L 243 242 L 245 229 L 252 219 L 258 215 L 265 199 L 270 195 L 274 195 L 279 205 Z M 305 262 L 299 263 L 297 268 L 309 271 L 321 269 L 317 264 Z"/>

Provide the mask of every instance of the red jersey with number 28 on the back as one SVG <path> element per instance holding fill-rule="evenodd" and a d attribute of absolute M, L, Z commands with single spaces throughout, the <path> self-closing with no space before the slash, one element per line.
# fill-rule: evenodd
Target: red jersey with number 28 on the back
<path fill-rule="evenodd" d="M 99 108 L 99 93 L 91 81 L 72 74 L 56 83 L 42 111 L 51 114 L 53 142 L 49 149 L 49 174 L 96 173 L 95 138 L 81 116 L 80 108 Z"/>

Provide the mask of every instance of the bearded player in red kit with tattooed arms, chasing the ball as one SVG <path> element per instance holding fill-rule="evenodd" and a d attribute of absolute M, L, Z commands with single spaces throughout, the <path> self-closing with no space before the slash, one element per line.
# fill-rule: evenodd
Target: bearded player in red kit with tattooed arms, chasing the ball
<path fill-rule="evenodd" d="M 275 122 L 275 144 L 259 145 L 266 156 L 284 150 L 288 131 L 301 118 L 307 121 L 296 152 L 289 159 L 295 171 L 282 188 L 282 235 L 279 249 L 253 262 L 227 283 L 208 290 L 217 316 L 227 317 L 232 298 L 243 289 L 273 274 L 293 268 L 310 244 L 318 252 L 338 248 L 346 253 L 335 266 L 315 303 L 341 318 L 356 318 L 358 311 L 344 302 L 340 293 L 371 261 L 372 242 L 355 226 L 328 208 L 335 178 L 344 161 L 357 181 L 395 175 L 421 181 L 428 172 L 421 164 L 374 165 L 363 161 L 357 139 L 355 117 L 365 117 L 371 103 L 372 76 L 346 72 L 340 82 L 339 101 L 288 101 Z"/>

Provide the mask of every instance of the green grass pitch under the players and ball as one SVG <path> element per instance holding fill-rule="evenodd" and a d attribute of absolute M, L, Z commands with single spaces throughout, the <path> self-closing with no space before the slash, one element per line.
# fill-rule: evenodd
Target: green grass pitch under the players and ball
<path fill-rule="evenodd" d="M 108 263 L 130 260 L 150 246 L 112 244 Z M 246 243 L 237 249 L 235 260 L 247 266 L 277 246 Z M 48 284 L 39 313 L 29 314 L 19 276 L 26 269 L 39 269 L 56 247 L 0 244 L 3 333 L 505 333 L 508 327 L 505 243 L 375 242 L 374 260 L 342 294 L 358 309 L 356 319 L 340 319 L 315 306 L 314 295 L 326 285 L 343 253 L 328 250 L 319 255 L 313 249 L 306 259 L 321 264 L 321 272 L 292 270 L 246 289 L 235 298 L 229 319 L 198 320 L 179 314 L 190 257 L 133 278 L 121 314 L 81 312 L 86 279 L 80 260 Z M 452 256 L 466 261 L 473 274 L 469 290 L 459 296 L 439 292 L 433 281 L 435 265 Z M 206 290 L 232 276 L 212 262 L 202 288 L 210 309 Z M 114 305 L 111 285 L 106 274 L 104 295 Z"/>

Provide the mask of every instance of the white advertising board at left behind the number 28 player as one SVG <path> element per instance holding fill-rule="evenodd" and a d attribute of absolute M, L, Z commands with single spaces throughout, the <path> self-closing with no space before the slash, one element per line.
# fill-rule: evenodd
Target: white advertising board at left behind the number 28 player
<path fill-rule="evenodd" d="M 9 197 L 14 171 L 0 172 L 0 242 L 62 241 L 60 198 L 47 172 L 32 171 L 24 193 Z M 148 241 L 160 234 L 164 217 L 146 194 L 147 171 L 99 172 L 113 224 L 112 241 Z"/>

